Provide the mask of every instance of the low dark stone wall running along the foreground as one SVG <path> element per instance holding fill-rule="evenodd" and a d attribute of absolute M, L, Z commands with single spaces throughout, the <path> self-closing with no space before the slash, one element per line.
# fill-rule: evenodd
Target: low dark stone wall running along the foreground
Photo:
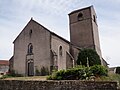
<path fill-rule="evenodd" d="M 0 80 L 0 90 L 117 90 L 117 82 Z"/>

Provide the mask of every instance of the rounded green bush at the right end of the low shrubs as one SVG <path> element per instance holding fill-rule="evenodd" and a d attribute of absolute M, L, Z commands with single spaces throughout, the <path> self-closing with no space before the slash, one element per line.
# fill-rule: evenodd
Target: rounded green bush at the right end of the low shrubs
<path fill-rule="evenodd" d="M 101 65 L 94 65 L 90 67 L 90 71 L 93 73 L 94 76 L 100 77 L 100 76 L 107 76 L 108 70 L 104 66 Z"/>

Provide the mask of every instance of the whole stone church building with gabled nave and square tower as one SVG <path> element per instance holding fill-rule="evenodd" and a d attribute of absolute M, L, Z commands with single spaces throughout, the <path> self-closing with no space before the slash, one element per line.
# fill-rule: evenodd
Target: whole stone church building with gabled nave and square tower
<path fill-rule="evenodd" d="M 96 17 L 93 6 L 71 12 L 70 42 L 31 19 L 13 42 L 12 69 L 33 76 L 43 67 L 49 72 L 71 68 L 82 48 L 96 50 L 103 64 Z"/>

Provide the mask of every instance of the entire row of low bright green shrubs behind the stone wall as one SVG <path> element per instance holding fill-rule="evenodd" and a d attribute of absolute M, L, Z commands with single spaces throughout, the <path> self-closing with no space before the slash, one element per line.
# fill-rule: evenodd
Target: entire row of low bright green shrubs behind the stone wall
<path fill-rule="evenodd" d="M 77 66 L 60 70 L 48 76 L 48 80 L 90 80 L 91 77 L 107 76 L 107 69 L 101 65 L 91 67 Z"/>

